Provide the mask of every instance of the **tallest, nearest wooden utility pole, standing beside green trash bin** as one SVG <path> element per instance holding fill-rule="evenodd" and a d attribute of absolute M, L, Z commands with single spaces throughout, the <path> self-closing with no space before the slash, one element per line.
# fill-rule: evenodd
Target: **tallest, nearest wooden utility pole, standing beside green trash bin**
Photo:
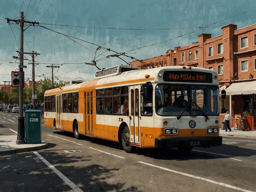
<path fill-rule="evenodd" d="M 28 23 L 30 26 L 31 25 L 39 25 L 38 22 L 35 21 L 25 21 L 24 20 L 24 13 L 20 12 L 20 17 L 18 20 L 13 20 L 6 18 L 7 23 L 10 23 L 10 21 L 13 21 L 20 25 L 21 27 L 21 32 L 20 32 L 20 49 L 19 49 L 19 54 L 20 54 L 20 65 L 19 65 L 19 117 L 18 117 L 18 134 L 17 134 L 17 140 L 16 144 L 24 144 L 25 143 L 25 117 L 23 116 L 23 68 L 26 68 L 26 66 L 23 65 L 23 33 L 24 33 L 24 23 Z"/>

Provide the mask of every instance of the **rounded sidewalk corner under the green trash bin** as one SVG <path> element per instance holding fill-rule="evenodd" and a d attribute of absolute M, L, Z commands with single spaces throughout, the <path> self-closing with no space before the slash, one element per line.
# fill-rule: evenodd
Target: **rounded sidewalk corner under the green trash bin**
<path fill-rule="evenodd" d="M 16 144 L 17 135 L 0 135 L 0 155 L 37 151 L 48 147 L 48 143 L 41 144 Z"/>

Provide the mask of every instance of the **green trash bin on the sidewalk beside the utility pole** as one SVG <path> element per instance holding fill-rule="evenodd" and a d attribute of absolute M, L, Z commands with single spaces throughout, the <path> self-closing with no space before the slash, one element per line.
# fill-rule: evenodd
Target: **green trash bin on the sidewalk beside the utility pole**
<path fill-rule="evenodd" d="M 25 141 L 27 144 L 41 143 L 41 110 L 26 110 Z"/>

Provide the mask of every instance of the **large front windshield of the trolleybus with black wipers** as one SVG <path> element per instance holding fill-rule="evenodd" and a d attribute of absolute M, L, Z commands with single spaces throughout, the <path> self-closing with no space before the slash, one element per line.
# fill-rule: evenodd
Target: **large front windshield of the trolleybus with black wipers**
<path fill-rule="evenodd" d="M 219 88 L 212 85 L 159 84 L 155 111 L 160 116 L 219 115 Z"/>

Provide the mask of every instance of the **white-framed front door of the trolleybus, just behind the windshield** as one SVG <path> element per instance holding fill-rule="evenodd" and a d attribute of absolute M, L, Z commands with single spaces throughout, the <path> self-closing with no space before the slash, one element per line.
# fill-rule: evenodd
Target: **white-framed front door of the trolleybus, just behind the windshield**
<path fill-rule="evenodd" d="M 139 118 L 139 86 L 130 87 L 130 115 L 131 115 L 131 124 L 130 124 L 130 142 L 140 146 L 140 118 Z"/>

